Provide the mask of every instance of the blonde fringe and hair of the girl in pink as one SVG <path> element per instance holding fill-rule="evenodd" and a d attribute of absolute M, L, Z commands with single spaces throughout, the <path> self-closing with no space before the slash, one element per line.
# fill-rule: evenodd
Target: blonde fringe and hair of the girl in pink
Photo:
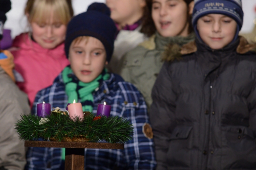
<path fill-rule="evenodd" d="M 74 15 L 71 0 L 28 0 L 25 14 L 28 22 L 44 23 L 53 12 L 54 21 L 67 25 Z"/>

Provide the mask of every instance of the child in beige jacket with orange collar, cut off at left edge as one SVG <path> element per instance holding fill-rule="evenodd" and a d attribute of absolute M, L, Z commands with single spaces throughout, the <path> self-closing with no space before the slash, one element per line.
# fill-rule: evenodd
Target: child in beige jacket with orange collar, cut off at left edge
<path fill-rule="evenodd" d="M 5 13 L 10 9 L 10 0 L 0 1 L 0 41 Z M 26 164 L 24 141 L 19 140 L 14 126 L 30 108 L 27 95 L 15 84 L 13 68 L 13 55 L 0 50 L 0 170 L 23 170 Z"/>

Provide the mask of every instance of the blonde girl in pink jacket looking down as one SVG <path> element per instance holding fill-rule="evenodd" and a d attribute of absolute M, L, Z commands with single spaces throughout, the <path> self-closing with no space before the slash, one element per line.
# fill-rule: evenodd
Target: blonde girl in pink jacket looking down
<path fill-rule="evenodd" d="M 18 35 L 10 50 L 15 70 L 22 75 L 17 85 L 32 106 L 37 92 L 51 85 L 69 64 L 63 42 L 73 9 L 71 0 L 28 0 L 25 14 L 31 30 Z"/>

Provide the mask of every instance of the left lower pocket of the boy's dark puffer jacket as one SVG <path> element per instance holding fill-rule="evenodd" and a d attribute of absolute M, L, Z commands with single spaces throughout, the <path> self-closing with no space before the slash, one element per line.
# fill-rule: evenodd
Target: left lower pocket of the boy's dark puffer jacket
<path fill-rule="evenodd" d="M 191 130 L 193 126 L 177 126 L 171 136 L 167 153 L 168 169 L 191 168 Z"/>

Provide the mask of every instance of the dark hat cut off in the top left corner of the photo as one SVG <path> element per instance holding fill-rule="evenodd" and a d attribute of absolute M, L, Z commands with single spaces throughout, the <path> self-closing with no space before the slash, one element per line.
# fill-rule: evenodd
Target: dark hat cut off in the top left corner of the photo
<path fill-rule="evenodd" d="M 3 24 L 6 21 L 5 13 L 11 10 L 10 0 L 0 0 L 0 40 L 3 38 Z"/>

